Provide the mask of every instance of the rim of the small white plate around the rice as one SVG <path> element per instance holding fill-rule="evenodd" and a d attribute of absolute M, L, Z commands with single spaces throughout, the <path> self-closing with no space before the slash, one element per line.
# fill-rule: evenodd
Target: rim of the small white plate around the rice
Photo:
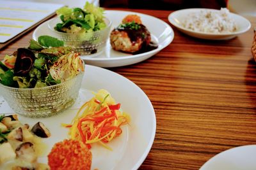
<path fill-rule="evenodd" d="M 184 13 L 184 11 L 188 11 L 188 12 L 191 11 L 191 12 L 193 12 L 193 11 L 201 11 L 201 10 L 220 11 L 220 10 L 209 9 L 209 8 L 188 8 L 188 9 L 182 9 L 182 10 L 177 10 L 177 11 L 173 11 L 172 13 L 170 13 L 168 15 L 168 21 L 172 25 L 177 27 L 178 29 L 182 29 L 184 31 L 188 31 L 188 32 L 195 33 L 195 34 L 200 34 L 202 36 L 209 36 L 209 37 L 210 36 L 235 36 L 235 35 L 242 34 L 242 33 L 246 32 L 246 31 L 248 31 L 252 27 L 252 24 L 251 24 L 251 22 L 248 19 L 244 18 L 241 15 L 237 15 L 236 13 L 232 13 L 232 12 L 230 12 L 230 15 L 236 16 L 236 17 L 238 17 L 240 19 L 243 19 L 244 22 L 246 22 L 248 24 L 245 29 L 243 29 L 241 31 L 230 32 L 230 33 L 220 33 L 220 34 L 218 34 L 218 33 L 211 33 L 211 32 L 207 33 L 207 32 L 200 32 L 200 31 L 193 31 L 191 29 L 186 29 L 186 28 L 182 27 L 180 24 L 177 24 L 177 22 L 174 22 L 174 16 L 173 15 L 180 15 L 180 13 L 182 14 L 182 13 Z"/>

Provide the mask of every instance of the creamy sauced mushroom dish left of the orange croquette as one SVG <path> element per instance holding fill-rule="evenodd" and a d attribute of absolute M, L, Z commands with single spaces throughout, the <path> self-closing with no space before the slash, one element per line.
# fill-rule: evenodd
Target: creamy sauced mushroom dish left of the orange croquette
<path fill-rule="evenodd" d="M 49 169 L 37 162 L 44 148 L 42 140 L 17 115 L 0 115 L 0 169 Z"/>

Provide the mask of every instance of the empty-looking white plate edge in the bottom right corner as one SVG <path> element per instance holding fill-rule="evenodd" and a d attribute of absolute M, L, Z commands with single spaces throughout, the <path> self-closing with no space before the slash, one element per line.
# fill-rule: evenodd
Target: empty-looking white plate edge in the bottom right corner
<path fill-rule="evenodd" d="M 231 148 L 209 159 L 200 170 L 255 170 L 256 145 Z"/>

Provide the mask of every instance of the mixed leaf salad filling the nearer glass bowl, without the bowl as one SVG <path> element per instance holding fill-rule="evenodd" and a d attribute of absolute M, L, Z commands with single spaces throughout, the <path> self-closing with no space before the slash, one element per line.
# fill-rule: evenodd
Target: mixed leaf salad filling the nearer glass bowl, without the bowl
<path fill-rule="evenodd" d="M 56 85 L 84 71 L 83 60 L 69 46 L 51 36 L 31 39 L 0 61 L 0 83 L 9 87 L 38 88 Z"/>

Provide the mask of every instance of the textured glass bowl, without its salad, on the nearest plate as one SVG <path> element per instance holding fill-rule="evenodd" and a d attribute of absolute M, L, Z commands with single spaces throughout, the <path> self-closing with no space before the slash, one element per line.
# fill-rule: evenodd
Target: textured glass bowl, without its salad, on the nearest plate
<path fill-rule="evenodd" d="M 9 106 L 24 117 L 51 117 L 66 110 L 77 99 L 84 72 L 58 85 L 19 89 L 0 83 L 0 92 Z"/>

